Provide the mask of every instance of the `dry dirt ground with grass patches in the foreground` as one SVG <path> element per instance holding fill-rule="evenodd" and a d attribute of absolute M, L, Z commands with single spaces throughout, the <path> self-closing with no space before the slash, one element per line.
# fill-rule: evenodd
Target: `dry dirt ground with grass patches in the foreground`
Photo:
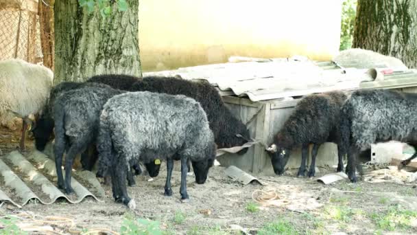
<path fill-rule="evenodd" d="M 0 129 L 3 155 L 18 145 L 19 131 Z M 33 148 L 29 138 L 27 146 L 29 150 Z M 248 234 L 417 234 L 417 207 L 410 204 L 417 201 L 416 183 L 341 180 L 326 186 L 316 179 L 334 170 L 320 168 L 314 179 L 291 175 L 259 177 L 267 186 L 243 186 L 226 176 L 224 167 L 215 166 L 203 185 L 194 183 L 193 176 L 187 177 L 190 201 L 181 203 L 180 172 L 173 174 L 173 196 L 165 197 L 165 165 L 161 169 L 153 181 L 148 181 L 150 177 L 145 172 L 136 177 L 136 186 L 128 187 L 130 197 L 136 200 L 134 212 L 115 203 L 111 188 L 105 186 L 104 203 L 92 198 L 77 204 L 60 200 L 43 205 L 31 201 L 22 209 L 2 204 L 0 215 L 27 213 L 39 218 L 60 216 L 73 220 L 72 227 L 53 225 L 55 234 L 88 234 L 97 228 L 120 233 L 122 225 L 140 227 L 139 223 L 134 225 L 139 218 L 158 221 L 163 234 L 239 234 L 238 230 L 233 230 L 237 228 L 246 229 Z M 256 203 L 252 199 L 255 190 L 276 190 L 281 205 Z M 2 218 L 0 224 L 4 227 Z M 14 223 L 19 224 L 19 219 Z"/>

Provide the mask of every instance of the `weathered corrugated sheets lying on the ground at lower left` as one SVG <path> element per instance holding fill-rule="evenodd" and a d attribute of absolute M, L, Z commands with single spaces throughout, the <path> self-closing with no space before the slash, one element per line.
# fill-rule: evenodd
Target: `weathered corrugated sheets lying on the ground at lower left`
<path fill-rule="evenodd" d="M 91 196 L 104 202 L 104 189 L 93 172 L 73 171 L 71 186 L 75 193 L 71 195 L 56 187 L 56 178 L 55 162 L 43 153 L 35 150 L 24 157 L 13 151 L 0 158 L 0 201 L 19 208 L 32 199 L 43 204 L 54 203 L 59 198 L 79 203 Z"/>

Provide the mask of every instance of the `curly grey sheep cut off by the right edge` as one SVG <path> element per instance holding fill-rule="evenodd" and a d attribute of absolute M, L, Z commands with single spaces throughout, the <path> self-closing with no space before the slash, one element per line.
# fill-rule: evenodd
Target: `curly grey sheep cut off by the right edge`
<path fill-rule="evenodd" d="M 346 172 L 356 182 L 355 168 L 360 151 L 371 144 L 396 140 L 417 147 L 417 94 L 369 89 L 354 91 L 342 107 L 340 130 L 342 143 L 348 149 Z M 417 150 L 417 149 L 416 149 Z M 402 161 L 405 166 L 417 156 Z"/>

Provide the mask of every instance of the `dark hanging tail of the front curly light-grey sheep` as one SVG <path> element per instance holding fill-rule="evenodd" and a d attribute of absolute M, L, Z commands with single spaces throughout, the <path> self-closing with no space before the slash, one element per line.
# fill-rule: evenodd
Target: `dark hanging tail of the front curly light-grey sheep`
<path fill-rule="evenodd" d="M 99 136 L 97 139 L 97 150 L 99 152 L 97 177 L 104 177 L 108 175 L 108 169 L 112 164 L 112 138 L 110 135 L 110 128 L 108 124 L 100 120 Z"/>

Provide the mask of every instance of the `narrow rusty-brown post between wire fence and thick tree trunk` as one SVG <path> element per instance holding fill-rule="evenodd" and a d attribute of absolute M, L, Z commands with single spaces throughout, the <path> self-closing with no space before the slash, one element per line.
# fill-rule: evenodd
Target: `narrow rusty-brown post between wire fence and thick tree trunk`
<path fill-rule="evenodd" d="M 38 14 L 40 25 L 40 45 L 42 47 L 43 65 L 53 70 L 53 3 L 55 0 L 39 0 Z"/>

